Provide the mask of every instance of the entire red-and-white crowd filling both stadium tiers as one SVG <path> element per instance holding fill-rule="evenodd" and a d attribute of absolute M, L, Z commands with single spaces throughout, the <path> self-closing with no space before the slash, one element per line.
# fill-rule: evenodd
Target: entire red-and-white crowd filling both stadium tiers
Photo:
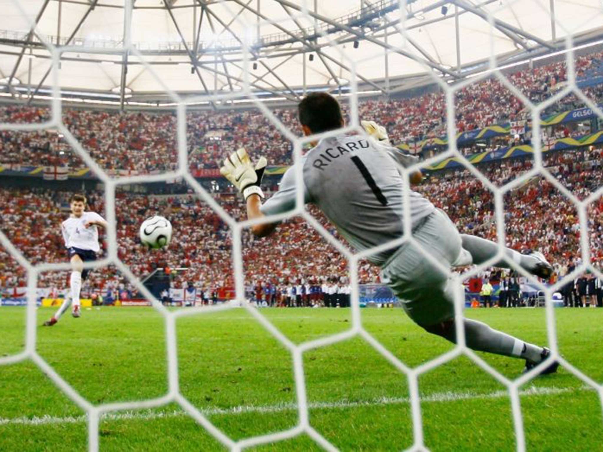
<path fill-rule="evenodd" d="M 575 58 L 576 77 L 586 83 L 582 92 L 597 104 L 603 99 L 603 52 Z M 532 69 L 506 74 L 532 102 L 541 102 L 563 89 L 566 81 L 564 61 L 544 64 Z M 599 80 L 599 83 L 595 81 Z M 591 83 L 593 82 L 593 83 Z M 496 99 L 496 102 L 494 102 Z M 359 116 L 383 124 L 393 143 L 408 143 L 426 137 L 446 134 L 446 99 L 441 92 L 421 96 L 383 100 L 365 100 L 359 104 Z M 571 94 L 548 107 L 543 114 L 584 107 L 584 102 Z M 346 108 L 346 107 L 344 107 Z M 455 95 L 456 127 L 459 133 L 496 124 L 526 119 L 525 105 L 499 80 L 485 78 L 470 84 Z M 0 122 L 27 123 L 49 119 L 45 107 L 3 105 Z M 285 127 L 300 134 L 294 108 L 274 110 Z M 156 174 L 176 168 L 177 143 L 175 113 L 64 108 L 63 121 L 93 159 L 112 174 Z M 543 138 L 584 135 L 584 124 L 561 124 L 545 128 Z M 598 130 L 589 123 L 589 133 Z M 189 111 L 186 115 L 189 160 L 193 174 L 215 170 L 225 155 L 239 146 L 251 149 L 254 155 L 265 155 L 274 166 L 292 162 L 291 145 L 279 130 L 256 110 Z M 219 139 L 216 139 L 219 138 Z M 529 141 L 529 139 L 528 139 Z M 519 144 L 517 137 L 507 133 L 486 143 L 475 140 L 459 146 L 461 153 L 472 155 L 503 146 Z M 444 148 L 436 148 L 436 152 Z M 65 137 L 57 131 L 0 131 L 1 164 L 19 170 L 21 166 L 66 166 L 71 170 L 83 163 L 71 151 Z M 429 155 L 433 155 L 433 152 Z M 584 199 L 601 187 L 603 182 L 603 151 L 601 146 L 581 146 L 545 155 L 545 167 L 576 198 Z M 528 156 L 497 159 L 477 165 L 489 180 L 502 186 L 532 168 Z M 197 173 L 195 173 L 197 171 Z M 212 173 L 213 174 L 213 173 Z M 93 177 L 93 175 L 92 175 Z M 209 187 L 216 201 L 240 220 L 244 206 L 232 187 L 201 180 Z M 265 180 L 268 190 L 276 190 L 277 178 Z M 34 186 L 36 184 L 33 184 Z M 462 166 L 428 172 L 427 180 L 416 189 L 446 210 L 461 232 L 496 239 L 496 221 L 492 193 Z M 186 187 L 170 190 L 172 194 L 151 192 L 140 194 L 119 192 L 116 203 L 119 257 L 135 275 L 144 277 L 156 268 L 185 267 L 188 271 L 175 277 L 174 286 L 187 284 L 204 290 L 232 287 L 231 239 L 229 228 L 206 204 L 191 195 Z M 68 199 L 73 190 L 56 187 L 0 189 L 0 226 L 12 242 L 33 263 L 63 262 L 65 250 L 58 225 L 68 215 Z M 102 212 L 102 192 L 87 190 L 90 208 Z M 550 209 L 551 205 L 555 209 Z M 517 250 L 541 250 L 554 262 L 558 274 L 576 265 L 580 259 L 578 214 L 572 202 L 543 177 L 534 177 L 505 195 L 507 244 Z M 147 216 L 167 216 L 175 230 L 167 253 L 142 252 L 137 227 Z M 318 215 L 318 214 L 317 214 Z M 320 221 L 334 235 L 336 230 L 319 215 Z M 596 265 L 603 261 L 603 201 L 589 206 L 590 248 Z M 244 235 L 245 274 L 250 284 L 286 285 L 297 281 L 346 281 L 347 263 L 320 235 L 301 219 L 291 219 L 282 226 L 277 238 L 254 239 Z M 253 246 L 251 244 L 253 243 Z M 24 272 L 2 252 L 5 267 L 0 284 L 3 287 L 25 284 Z M 9 263 L 10 262 L 10 263 Z M 360 267 L 361 283 L 379 282 L 377 268 L 368 262 Z M 92 273 L 85 290 L 115 287 L 133 290 L 115 268 Z M 40 284 L 63 287 L 62 272 L 42 275 Z M 284 290 L 284 289 L 283 289 Z"/>

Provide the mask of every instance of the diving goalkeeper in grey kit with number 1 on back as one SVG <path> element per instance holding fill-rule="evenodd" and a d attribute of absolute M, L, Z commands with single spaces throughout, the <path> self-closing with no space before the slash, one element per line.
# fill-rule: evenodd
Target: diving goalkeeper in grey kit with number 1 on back
<path fill-rule="evenodd" d="M 318 206 L 356 250 L 399 239 L 403 233 L 402 178 L 392 159 L 408 167 L 417 162 L 416 157 L 390 146 L 385 129 L 374 122 L 362 122 L 370 139 L 337 133 L 344 120 L 339 103 L 327 93 L 306 96 L 298 105 L 298 113 L 306 136 L 335 131 L 332 136 L 313 142 L 314 148 L 303 157 L 300 189 L 304 201 Z M 266 159 L 260 157 L 253 166 L 245 149 L 239 149 L 220 169 L 241 191 L 250 219 L 289 212 L 295 207 L 294 168 L 285 172 L 279 191 L 262 204 L 260 182 L 266 165 Z M 420 181 L 420 174 L 412 174 L 413 181 Z M 459 234 L 446 213 L 435 209 L 419 193 L 411 190 L 409 202 L 412 236 L 444 265 L 479 264 L 497 254 L 496 243 Z M 266 222 L 255 225 L 252 231 L 256 236 L 267 236 L 276 226 L 277 223 Z M 507 260 L 511 260 L 538 277 L 549 278 L 552 274 L 551 265 L 540 253 L 523 255 L 507 248 L 506 254 L 497 266 L 508 268 Z M 429 333 L 456 342 L 456 287 L 446 272 L 425 259 L 411 243 L 375 253 L 369 260 L 382 269 L 382 281 L 396 293 L 414 322 Z M 526 369 L 550 354 L 547 348 L 521 341 L 482 322 L 463 321 L 467 346 L 473 350 L 525 359 Z M 555 372 L 557 366 L 551 362 L 542 373 Z"/>

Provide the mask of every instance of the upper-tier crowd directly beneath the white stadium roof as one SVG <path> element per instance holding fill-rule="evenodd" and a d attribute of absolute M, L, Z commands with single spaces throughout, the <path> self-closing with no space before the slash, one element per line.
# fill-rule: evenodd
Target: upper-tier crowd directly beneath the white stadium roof
<path fill-rule="evenodd" d="M 578 80 L 592 82 L 582 92 L 594 103 L 603 101 L 603 52 L 575 60 Z M 552 63 L 510 74 L 509 80 L 526 98 L 538 103 L 564 86 L 565 63 Z M 587 83 L 588 84 L 588 83 Z M 545 116 L 584 102 L 574 94 L 546 109 Z M 346 114 L 349 108 L 344 105 Z M 285 127 L 300 136 L 294 108 L 274 110 Z M 0 122 L 27 123 L 49 119 L 49 108 L 0 107 Z M 487 78 L 458 91 L 455 123 L 459 132 L 529 118 L 529 110 L 496 78 Z M 443 93 L 419 97 L 364 101 L 361 119 L 384 125 L 393 143 L 412 142 L 446 134 L 446 99 Z M 174 169 L 177 164 L 175 113 L 80 110 L 65 108 L 63 122 L 101 168 L 139 174 Z M 291 165 L 291 143 L 260 110 L 195 110 L 186 115 L 186 136 L 191 169 L 215 169 L 240 146 L 253 155 L 265 155 L 269 165 Z M 509 135 L 507 140 L 513 137 Z M 0 131 L 0 164 L 83 167 L 71 146 L 57 133 Z"/>

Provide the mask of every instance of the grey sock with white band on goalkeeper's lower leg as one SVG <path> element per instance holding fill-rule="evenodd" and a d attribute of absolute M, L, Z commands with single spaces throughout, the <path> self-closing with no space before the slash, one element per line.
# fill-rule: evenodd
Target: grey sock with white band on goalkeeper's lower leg
<path fill-rule="evenodd" d="M 541 360 L 542 347 L 523 342 L 476 320 L 464 319 L 464 325 L 465 342 L 467 347 L 472 350 L 523 358 L 536 363 Z M 456 325 L 453 321 L 447 324 L 447 328 L 440 331 L 432 328 L 427 328 L 427 330 L 456 344 Z"/>

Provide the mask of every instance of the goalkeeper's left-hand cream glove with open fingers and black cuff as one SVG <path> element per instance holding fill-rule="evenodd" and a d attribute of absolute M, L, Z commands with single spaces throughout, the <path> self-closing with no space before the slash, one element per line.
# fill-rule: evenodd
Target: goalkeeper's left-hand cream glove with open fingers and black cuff
<path fill-rule="evenodd" d="M 254 167 L 245 148 L 240 148 L 233 152 L 230 157 L 226 157 L 224 166 L 220 168 L 220 174 L 226 177 L 239 192 L 243 193 L 245 199 L 254 193 L 264 199 L 264 192 L 260 188 L 260 183 L 266 165 L 265 157 L 260 157 Z"/>

